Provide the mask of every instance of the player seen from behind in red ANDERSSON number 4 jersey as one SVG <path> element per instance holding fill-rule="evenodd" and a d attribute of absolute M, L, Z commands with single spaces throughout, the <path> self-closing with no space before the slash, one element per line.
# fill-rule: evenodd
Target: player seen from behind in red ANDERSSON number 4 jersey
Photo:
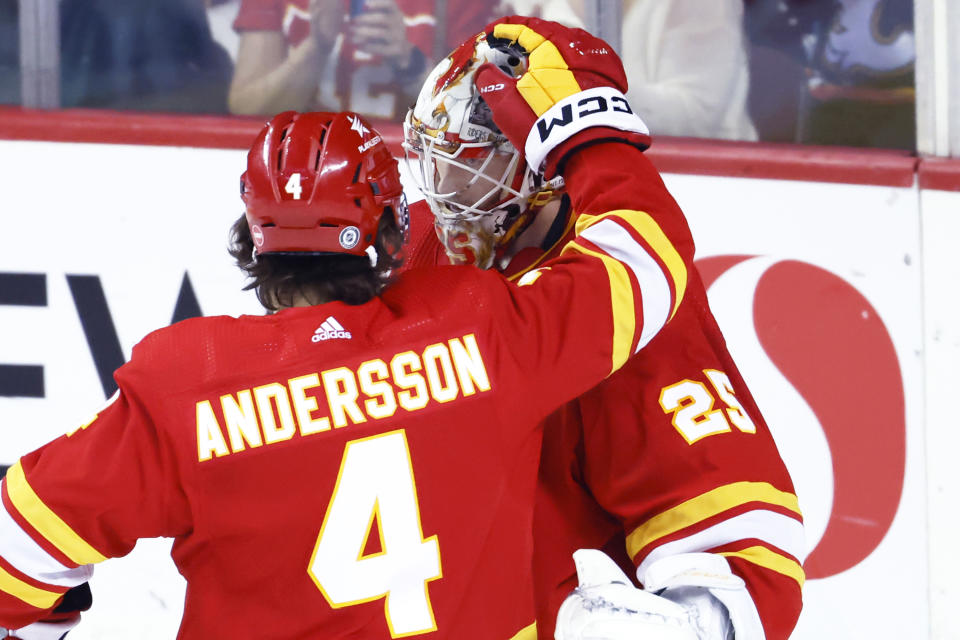
<path fill-rule="evenodd" d="M 570 73 L 604 87 L 605 68 Z M 591 168 L 638 150 L 549 142 L 551 166 L 584 176 L 562 256 L 517 283 L 393 280 L 407 216 L 381 137 L 355 114 L 276 116 L 232 248 L 275 313 L 148 335 L 106 407 L 9 469 L 0 625 L 59 636 L 75 620 L 47 616 L 93 564 L 167 536 L 180 638 L 522 637 L 538 425 L 661 330 L 693 257 L 677 220 L 670 259 L 644 262 L 648 216 Z"/>

